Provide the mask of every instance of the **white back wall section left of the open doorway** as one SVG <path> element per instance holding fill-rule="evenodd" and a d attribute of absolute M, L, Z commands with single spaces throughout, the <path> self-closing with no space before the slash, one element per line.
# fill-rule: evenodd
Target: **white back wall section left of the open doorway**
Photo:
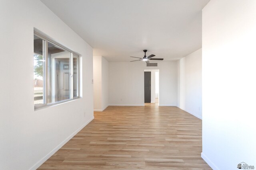
<path fill-rule="evenodd" d="M 109 62 L 109 105 L 144 106 L 143 64 Z"/>

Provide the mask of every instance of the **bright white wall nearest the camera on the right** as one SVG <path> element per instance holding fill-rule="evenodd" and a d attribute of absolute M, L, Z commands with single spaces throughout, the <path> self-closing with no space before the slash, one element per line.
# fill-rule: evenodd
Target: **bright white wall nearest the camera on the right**
<path fill-rule="evenodd" d="M 256 1 L 202 11 L 202 157 L 215 170 L 256 166 Z"/>

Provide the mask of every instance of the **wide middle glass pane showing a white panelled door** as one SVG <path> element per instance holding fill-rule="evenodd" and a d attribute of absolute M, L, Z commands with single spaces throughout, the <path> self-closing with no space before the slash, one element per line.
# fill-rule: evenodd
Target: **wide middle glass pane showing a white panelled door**
<path fill-rule="evenodd" d="M 48 41 L 48 104 L 70 99 L 71 53 Z"/>

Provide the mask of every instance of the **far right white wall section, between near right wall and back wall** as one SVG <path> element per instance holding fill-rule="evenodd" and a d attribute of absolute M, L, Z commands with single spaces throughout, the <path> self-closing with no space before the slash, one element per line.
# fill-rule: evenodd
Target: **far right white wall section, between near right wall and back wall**
<path fill-rule="evenodd" d="M 177 61 L 178 107 L 202 119 L 202 49 Z"/>

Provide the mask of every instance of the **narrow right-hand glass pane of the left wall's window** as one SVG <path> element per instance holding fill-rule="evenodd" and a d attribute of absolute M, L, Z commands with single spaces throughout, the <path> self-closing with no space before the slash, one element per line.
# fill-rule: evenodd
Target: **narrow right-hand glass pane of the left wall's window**
<path fill-rule="evenodd" d="M 78 96 L 78 56 L 73 54 L 73 97 Z"/>

